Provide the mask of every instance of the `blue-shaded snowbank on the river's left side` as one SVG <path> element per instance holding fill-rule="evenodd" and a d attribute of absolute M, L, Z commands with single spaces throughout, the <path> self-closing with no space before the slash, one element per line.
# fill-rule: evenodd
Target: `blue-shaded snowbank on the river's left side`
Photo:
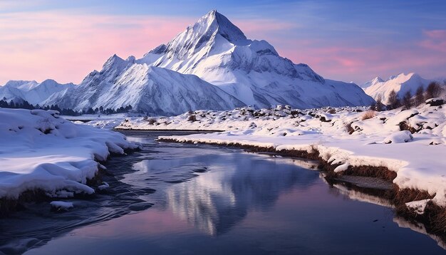
<path fill-rule="evenodd" d="M 125 136 L 60 118 L 53 110 L 0 108 L 0 198 L 17 199 L 26 190 L 50 197 L 92 194 L 95 177 L 110 153 L 138 146 Z"/>

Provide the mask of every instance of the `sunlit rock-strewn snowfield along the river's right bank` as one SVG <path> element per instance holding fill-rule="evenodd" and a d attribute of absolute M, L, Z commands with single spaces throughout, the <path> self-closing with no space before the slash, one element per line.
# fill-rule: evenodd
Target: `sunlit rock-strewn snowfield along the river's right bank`
<path fill-rule="evenodd" d="M 128 118 L 117 128 L 223 130 L 160 138 L 277 151 L 318 150 L 323 160 L 338 165 L 335 172 L 349 165 L 388 167 L 397 173 L 393 182 L 400 188 L 426 190 L 435 194 L 433 202 L 446 206 L 446 108 L 442 106 L 380 113 L 360 107 L 203 110 L 170 118 Z"/>

